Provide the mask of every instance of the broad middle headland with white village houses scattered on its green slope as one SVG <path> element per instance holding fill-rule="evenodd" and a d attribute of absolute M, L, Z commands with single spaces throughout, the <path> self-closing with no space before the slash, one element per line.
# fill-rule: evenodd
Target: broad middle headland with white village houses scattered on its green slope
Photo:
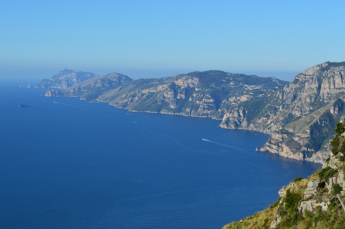
<path fill-rule="evenodd" d="M 161 79 L 139 79 L 98 97 L 99 101 L 131 111 L 159 112 L 222 119 L 229 110 L 247 109 L 255 117 L 286 85 L 273 77 L 223 71 L 191 72 Z"/>

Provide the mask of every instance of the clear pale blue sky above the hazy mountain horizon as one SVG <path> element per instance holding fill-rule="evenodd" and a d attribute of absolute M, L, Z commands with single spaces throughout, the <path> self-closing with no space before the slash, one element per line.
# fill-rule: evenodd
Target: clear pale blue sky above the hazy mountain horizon
<path fill-rule="evenodd" d="M 345 60 L 345 1 L 0 1 L 0 77 L 223 70 L 291 80 Z"/>

